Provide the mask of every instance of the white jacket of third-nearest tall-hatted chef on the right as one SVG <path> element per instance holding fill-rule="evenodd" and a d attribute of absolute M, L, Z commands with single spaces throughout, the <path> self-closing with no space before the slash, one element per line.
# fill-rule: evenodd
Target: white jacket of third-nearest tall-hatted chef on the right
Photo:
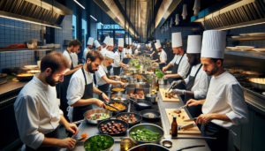
<path fill-rule="evenodd" d="M 184 54 L 183 58 L 181 59 L 181 62 L 179 64 L 180 58 L 182 56 L 175 55 L 173 60 L 170 61 L 170 64 L 178 64 L 178 75 L 180 77 L 185 78 L 186 73 L 189 72 L 190 64 L 188 62 L 188 57 L 186 57 L 186 54 Z"/>

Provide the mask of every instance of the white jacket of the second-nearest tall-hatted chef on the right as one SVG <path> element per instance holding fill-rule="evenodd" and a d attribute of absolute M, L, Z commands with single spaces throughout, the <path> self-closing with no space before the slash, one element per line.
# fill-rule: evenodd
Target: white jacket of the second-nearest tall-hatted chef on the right
<path fill-rule="evenodd" d="M 193 66 L 191 73 L 186 77 L 186 79 L 184 79 L 186 84 L 189 83 L 190 76 L 193 76 L 193 77 L 195 76 L 200 66 L 201 64 L 197 64 Z M 208 74 L 203 71 L 203 67 L 201 66 L 200 71 L 197 73 L 197 76 L 195 77 L 194 84 L 191 90 L 194 92 L 195 99 L 206 98 L 206 94 L 208 92 L 208 83 L 209 83 L 210 78 L 211 76 L 208 76 Z"/>

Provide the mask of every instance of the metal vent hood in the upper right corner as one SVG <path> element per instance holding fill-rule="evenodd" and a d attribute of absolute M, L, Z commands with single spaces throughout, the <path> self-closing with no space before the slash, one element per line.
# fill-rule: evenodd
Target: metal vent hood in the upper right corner
<path fill-rule="evenodd" d="M 264 24 L 264 2 L 263 0 L 241 0 L 202 16 L 200 19 L 194 19 L 193 17 L 192 21 L 201 22 L 206 30 L 227 30 L 242 26 Z M 205 10 L 200 13 L 205 13 Z"/>

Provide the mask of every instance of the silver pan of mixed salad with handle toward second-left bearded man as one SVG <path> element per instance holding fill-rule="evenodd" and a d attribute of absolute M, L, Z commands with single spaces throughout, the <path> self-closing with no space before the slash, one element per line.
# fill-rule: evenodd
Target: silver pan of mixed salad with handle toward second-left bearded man
<path fill-rule="evenodd" d="M 79 121 L 75 121 L 73 122 L 72 124 L 79 124 L 83 121 L 87 121 L 87 124 L 91 124 L 91 125 L 97 125 L 98 123 L 100 123 L 102 120 L 90 120 L 88 117 L 90 117 L 91 115 L 95 114 L 95 113 L 105 113 L 105 114 L 109 114 L 110 117 L 109 118 L 106 118 L 106 119 L 110 119 L 112 117 L 112 113 L 110 110 L 107 110 L 107 109 L 90 109 L 90 110 L 87 110 L 85 113 L 84 113 L 84 119 L 81 119 Z M 106 119 L 103 119 L 103 120 L 106 120 Z"/>

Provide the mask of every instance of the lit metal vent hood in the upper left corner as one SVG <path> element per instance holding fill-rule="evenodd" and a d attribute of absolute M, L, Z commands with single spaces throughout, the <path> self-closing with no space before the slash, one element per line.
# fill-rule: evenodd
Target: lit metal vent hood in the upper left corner
<path fill-rule="evenodd" d="M 72 15 L 55 0 L 2 0 L 0 17 L 61 28 L 64 15 Z"/>

